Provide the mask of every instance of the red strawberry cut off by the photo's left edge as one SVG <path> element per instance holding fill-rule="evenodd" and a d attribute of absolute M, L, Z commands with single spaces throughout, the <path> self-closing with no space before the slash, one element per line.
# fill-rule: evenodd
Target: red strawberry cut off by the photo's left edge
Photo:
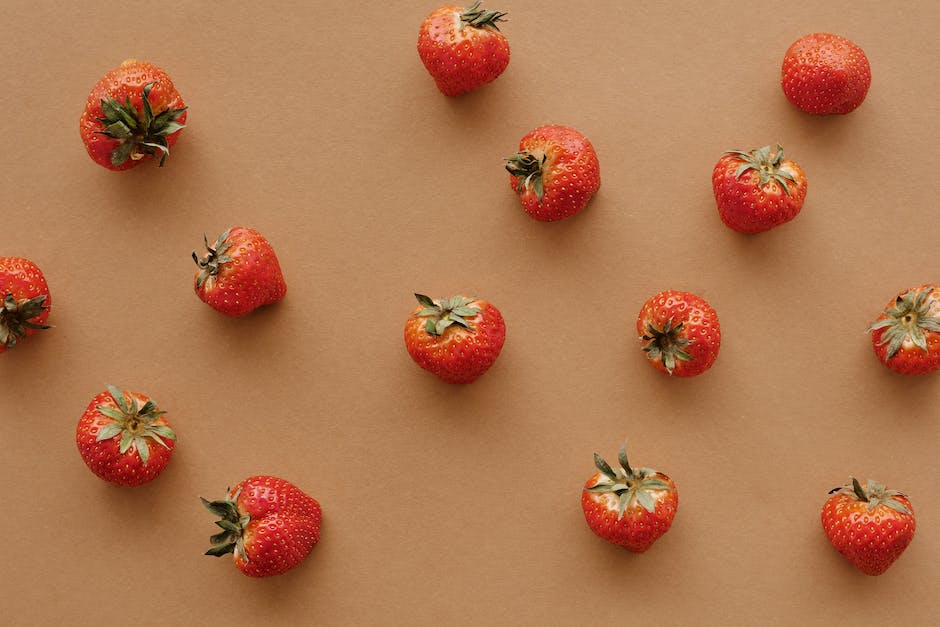
<path fill-rule="evenodd" d="M 22 257 L 0 257 L 0 353 L 45 324 L 52 307 L 46 277 L 36 264 Z"/>

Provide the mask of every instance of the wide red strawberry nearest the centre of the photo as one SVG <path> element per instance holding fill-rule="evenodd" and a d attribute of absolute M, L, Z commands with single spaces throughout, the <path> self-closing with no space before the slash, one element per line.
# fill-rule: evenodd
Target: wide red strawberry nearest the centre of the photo
<path fill-rule="evenodd" d="M 405 323 L 405 348 L 415 362 L 447 383 L 470 383 L 489 370 L 506 340 L 506 323 L 494 305 L 451 296 L 420 305 Z"/>

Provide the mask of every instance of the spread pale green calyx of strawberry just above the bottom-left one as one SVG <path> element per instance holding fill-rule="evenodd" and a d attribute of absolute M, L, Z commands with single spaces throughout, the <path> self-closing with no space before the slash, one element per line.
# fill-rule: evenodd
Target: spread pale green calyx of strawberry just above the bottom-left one
<path fill-rule="evenodd" d="M 134 448 L 137 449 L 137 454 L 140 455 L 140 461 L 144 466 L 146 466 L 147 462 L 150 460 L 150 444 L 148 440 L 153 440 L 164 448 L 170 448 L 167 443 L 164 442 L 164 438 L 175 440 L 176 433 L 167 425 L 155 424 L 157 418 L 166 413 L 165 411 L 157 409 L 156 403 L 148 400 L 144 403 L 143 407 L 141 407 L 137 399 L 133 397 L 131 398 L 131 402 L 128 403 L 124 392 L 113 385 L 108 386 L 108 393 L 111 395 L 111 398 L 114 399 L 117 407 L 98 405 L 95 409 L 102 415 L 113 419 L 114 422 L 104 426 L 98 431 L 96 438 L 98 442 L 120 436 L 121 442 L 119 450 L 121 454 L 126 453 L 131 445 L 133 445 Z"/>

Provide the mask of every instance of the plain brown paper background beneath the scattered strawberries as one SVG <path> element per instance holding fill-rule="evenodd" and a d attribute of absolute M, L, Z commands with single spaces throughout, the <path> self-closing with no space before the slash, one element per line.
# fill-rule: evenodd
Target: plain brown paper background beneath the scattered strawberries
<path fill-rule="evenodd" d="M 433 2 L 4 3 L 0 254 L 53 292 L 53 330 L 0 357 L 3 622 L 929 624 L 940 610 L 940 376 L 883 368 L 868 324 L 937 281 L 940 72 L 928 0 L 522 2 L 512 61 L 458 99 L 415 52 Z M 780 61 L 831 31 L 873 83 L 844 117 L 784 98 Z M 167 166 L 111 173 L 78 137 L 124 58 L 190 106 Z M 535 126 L 601 161 L 588 209 L 527 217 L 501 159 Z M 809 192 L 792 223 L 717 217 L 722 151 L 782 142 Z M 192 293 L 203 233 L 272 242 L 288 295 L 231 320 Z M 696 292 L 723 329 L 692 380 L 654 371 L 643 301 Z M 412 293 L 494 302 L 508 337 L 470 386 L 421 371 Z M 137 489 L 82 464 L 108 383 L 152 395 L 179 445 Z M 670 474 L 680 506 L 644 555 L 587 529 L 591 454 Z M 299 568 L 254 580 L 202 556 L 198 497 L 256 473 L 324 510 Z M 910 494 L 907 553 L 866 577 L 819 511 L 850 475 Z"/>

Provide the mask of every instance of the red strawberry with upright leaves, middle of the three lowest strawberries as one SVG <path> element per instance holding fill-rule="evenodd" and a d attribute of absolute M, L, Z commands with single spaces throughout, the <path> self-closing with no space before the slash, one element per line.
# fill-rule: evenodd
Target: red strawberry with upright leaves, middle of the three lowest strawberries
<path fill-rule="evenodd" d="M 612 468 L 594 453 L 599 472 L 584 484 L 581 509 L 591 531 L 634 553 L 642 553 L 669 531 L 679 506 L 672 479 L 651 468 L 631 468 L 626 444 Z"/>

